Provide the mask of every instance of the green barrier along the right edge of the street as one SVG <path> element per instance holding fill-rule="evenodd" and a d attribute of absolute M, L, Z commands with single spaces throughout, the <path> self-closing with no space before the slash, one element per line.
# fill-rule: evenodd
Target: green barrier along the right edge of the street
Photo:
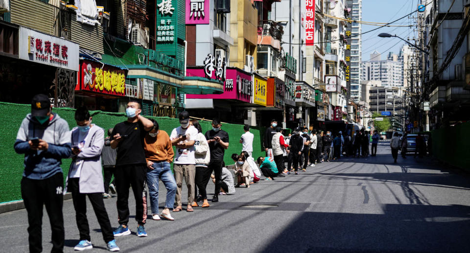
<path fill-rule="evenodd" d="M 447 164 L 470 171 L 470 122 L 431 132 L 432 155 Z"/>

